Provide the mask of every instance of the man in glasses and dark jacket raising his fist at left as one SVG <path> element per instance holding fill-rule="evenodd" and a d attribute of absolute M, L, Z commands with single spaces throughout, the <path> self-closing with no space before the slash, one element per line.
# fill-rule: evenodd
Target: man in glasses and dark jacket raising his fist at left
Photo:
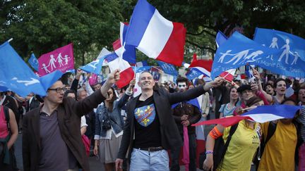
<path fill-rule="evenodd" d="M 108 75 L 100 91 L 76 101 L 64 98 L 65 85 L 56 81 L 47 89 L 44 104 L 23 118 L 23 168 L 35 170 L 89 170 L 80 136 L 80 117 L 96 108 L 117 80 L 119 70 Z"/>

